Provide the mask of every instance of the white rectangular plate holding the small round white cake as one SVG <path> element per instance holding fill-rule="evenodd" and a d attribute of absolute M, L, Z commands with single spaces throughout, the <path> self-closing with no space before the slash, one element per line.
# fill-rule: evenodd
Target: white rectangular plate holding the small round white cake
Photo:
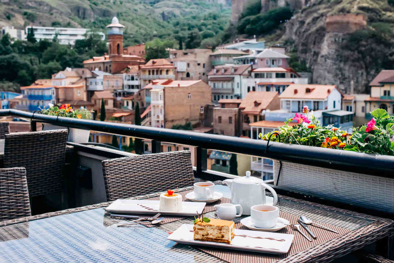
<path fill-rule="evenodd" d="M 156 214 L 195 216 L 197 212 L 201 214 L 206 203 L 204 202 L 182 202 L 182 211 L 160 211 L 159 201 L 157 200 L 128 200 L 118 199 L 110 204 L 105 210 L 114 213 L 125 214 Z"/>

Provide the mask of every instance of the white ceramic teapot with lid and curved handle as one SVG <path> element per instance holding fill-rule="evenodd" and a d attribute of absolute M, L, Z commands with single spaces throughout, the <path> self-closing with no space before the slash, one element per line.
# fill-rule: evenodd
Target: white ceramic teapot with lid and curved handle
<path fill-rule="evenodd" d="M 276 205 L 278 201 L 275 190 L 264 183 L 262 179 L 250 176 L 250 171 L 246 172 L 245 177 L 226 179 L 223 183 L 230 188 L 231 203 L 240 204 L 242 206 L 243 215 L 250 215 L 250 208 L 253 205 L 266 204 L 266 189 L 273 195 L 272 205 Z"/>

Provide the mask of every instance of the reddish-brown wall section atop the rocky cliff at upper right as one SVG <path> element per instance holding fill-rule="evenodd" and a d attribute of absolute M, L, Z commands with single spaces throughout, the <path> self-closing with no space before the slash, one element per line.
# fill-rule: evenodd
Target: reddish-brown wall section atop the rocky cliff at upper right
<path fill-rule="evenodd" d="M 366 16 L 356 14 L 327 15 L 326 32 L 351 33 L 367 26 Z"/>

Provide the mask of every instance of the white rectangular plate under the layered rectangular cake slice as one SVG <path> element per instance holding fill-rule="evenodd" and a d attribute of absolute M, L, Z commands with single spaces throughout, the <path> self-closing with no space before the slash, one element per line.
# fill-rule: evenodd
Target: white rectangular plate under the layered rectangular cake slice
<path fill-rule="evenodd" d="M 175 230 L 167 239 L 182 243 L 199 246 L 228 248 L 243 251 L 262 252 L 269 254 L 287 253 L 293 242 L 294 235 L 253 230 L 234 229 L 235 237 L 230 244 L 220 242 L 198 241 L 193 239 L 193 225 L 183 224 Z M 247 237 L 237 236 L 247 235 Z M 259 239 L 253 237 L 261 237 Z M 271 238 L 271 239 L 270 239 Z M 276 240 L 272 240 L 276 239 Z M 277 241 L 277 240 L 284 241 Z"/>

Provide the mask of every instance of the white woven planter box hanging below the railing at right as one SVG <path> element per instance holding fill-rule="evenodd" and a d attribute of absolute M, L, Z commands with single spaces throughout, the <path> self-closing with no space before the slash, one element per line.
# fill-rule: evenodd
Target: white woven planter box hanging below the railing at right
<path fill-rule="evenodd" d="M 394 162 L 394 158 L 393 158 Z M 273 161 L 276 183 L 279 161 Z M 394 179 L 282 161 L 280 187 L 394 213 Z"/>

